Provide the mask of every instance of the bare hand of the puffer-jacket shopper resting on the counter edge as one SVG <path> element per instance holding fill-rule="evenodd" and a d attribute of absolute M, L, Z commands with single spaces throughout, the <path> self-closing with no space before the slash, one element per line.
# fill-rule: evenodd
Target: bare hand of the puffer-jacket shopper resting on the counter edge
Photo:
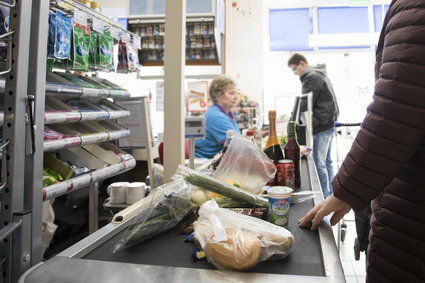
<path fill-rule="evenodd" d="M 313 207 L 303 218 L 298 221 L 298 225 L 301 227 L 306 227 L 307 224 L 312 221 L 311 230 L 316 230 L 319 223 L 322 221 L 323 217 L 334 212 L 331 217 L 331 225 L 338 223 L 342 217 L 344 217 L 347 212 L 351 210 L 348 203 L 330 195 L 319 205 Z"/>

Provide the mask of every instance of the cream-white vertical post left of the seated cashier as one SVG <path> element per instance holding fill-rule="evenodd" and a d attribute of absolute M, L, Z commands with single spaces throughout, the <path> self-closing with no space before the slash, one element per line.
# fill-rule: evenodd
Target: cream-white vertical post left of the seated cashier
<path fill-rule="evenodd" d="M 164 51 L 164 176 L 184 162 L 186 0 L 167 0 Z"/>

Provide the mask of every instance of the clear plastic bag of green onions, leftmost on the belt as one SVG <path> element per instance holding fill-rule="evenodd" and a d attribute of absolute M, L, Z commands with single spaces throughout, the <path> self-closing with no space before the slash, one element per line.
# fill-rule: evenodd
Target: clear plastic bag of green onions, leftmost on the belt
<path fill-rule="evenodd" d="M 192 188 L 184 180 L 176 180 L 152 190 L 137 203 L 141 210 L 113 252 L 139 244 L 176 226 L 194 208 L 189 200 Z"/>

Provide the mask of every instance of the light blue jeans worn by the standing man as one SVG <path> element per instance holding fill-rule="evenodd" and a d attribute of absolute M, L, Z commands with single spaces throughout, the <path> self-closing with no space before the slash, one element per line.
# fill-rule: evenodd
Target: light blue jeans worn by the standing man
<path fill-rule="evenodd" d="M 313 135 L 313 160 L 316 165 L 317 175 L 319 175 L 324 198 L 327 198 L 333 192 L 331 181 L 334 177 L 334 171 L 331 147 L 334 135 L 334 127 Z"/>

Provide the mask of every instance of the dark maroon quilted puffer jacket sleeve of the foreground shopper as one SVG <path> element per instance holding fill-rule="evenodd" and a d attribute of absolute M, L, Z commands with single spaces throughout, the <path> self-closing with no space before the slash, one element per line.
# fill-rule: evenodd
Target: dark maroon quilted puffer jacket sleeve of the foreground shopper
<path fill-rule="evenodd" d="M 354 210 L 400 174 L 425 135 L 425 1 L 388 11 L 373 102 L 332 185 Z M 379 48 L 378 48 L 379 49 Z"/>

